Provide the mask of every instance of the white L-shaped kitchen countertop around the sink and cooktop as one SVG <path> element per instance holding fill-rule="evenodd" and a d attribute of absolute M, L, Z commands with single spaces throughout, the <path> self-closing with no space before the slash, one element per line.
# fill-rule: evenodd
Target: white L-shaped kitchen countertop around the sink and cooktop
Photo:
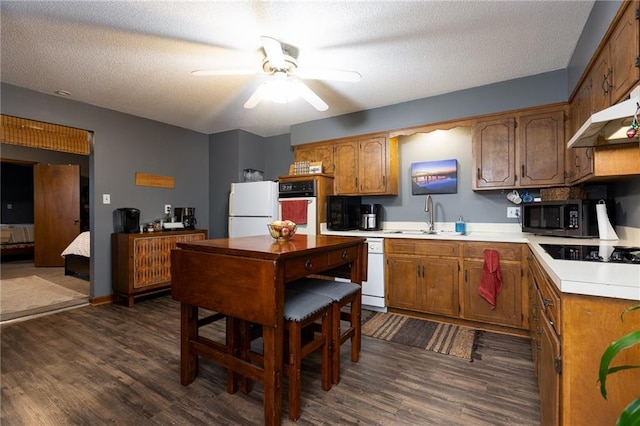
<path fill-rule="evenodd" d="M 385 223 L 380 231 L 330 231 L 323 224 L 321 233 L 326 235 L 358 236 L 366 238 L 417 238 L 425 240 L 486 241 L 528 244 L 541 266 L 558 290 L 563 293 L 588 296 L 612 297 L 640 300 L 640 265 L 608 262 L 586 262 L 553 259 L 540 244 L 604 245 L 640 247 L 637 232 L 620 235 L 616 241 L 601 241 L 598 238 L 545 237 L 521 232 L 518 224 L 467 224 L 468 232 L 458 235 L 448 229 L 452 224 L 443 224 L 438 234 L 398 233 L 397 231 L 419 231 L 424 224 L 395 222 Z"/>

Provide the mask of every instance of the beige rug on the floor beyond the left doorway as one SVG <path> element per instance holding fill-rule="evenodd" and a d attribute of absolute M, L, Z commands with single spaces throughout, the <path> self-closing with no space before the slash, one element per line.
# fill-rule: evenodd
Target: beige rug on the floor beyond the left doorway
<path fill-rule="evenodd" d="M 87 295 L 36 275 L 0 280 L 0 321 L 88 303 Z"/>

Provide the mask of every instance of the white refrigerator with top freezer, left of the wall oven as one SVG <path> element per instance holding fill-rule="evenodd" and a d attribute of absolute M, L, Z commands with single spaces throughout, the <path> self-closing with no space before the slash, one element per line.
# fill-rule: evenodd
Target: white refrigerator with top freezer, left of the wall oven
<path fill-rule="evenodd" d="M 229 193 L 229 238 L 269 235 L 278 220 L 278 182 L 232 183 Z"/>

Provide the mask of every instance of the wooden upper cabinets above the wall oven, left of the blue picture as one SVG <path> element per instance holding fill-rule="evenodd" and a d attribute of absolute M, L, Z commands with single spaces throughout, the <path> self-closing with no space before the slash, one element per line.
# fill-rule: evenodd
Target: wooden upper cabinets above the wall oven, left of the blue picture
<path fill-rule="evenodd" d="M 386 135 L 298 145 L 295 161 L 322 161 L 336 195 L 397 195 L 398 139 Z M 330 167 L 328 166 L 330 164 Z"/>

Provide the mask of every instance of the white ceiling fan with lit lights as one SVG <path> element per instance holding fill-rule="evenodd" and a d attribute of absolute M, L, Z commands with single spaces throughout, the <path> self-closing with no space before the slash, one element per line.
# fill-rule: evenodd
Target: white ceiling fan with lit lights
<path fill-rule="evenodd" d="M 277 103 L 286 103 L 297 97 L 309 102 L 318 111 L 326 111 L 329 106 L 300 79 L 335 80 L 358 82 L 362 78 L 356 71 L 345 70 L 306 70 L 298 68 L 297 49 L 280 43 L 278 40 L 262 36 L 265 58 L 262 72 L 271 76 L 261 84 L 245 102 L 247 109 L 255 108 L 261 101 L 270 99 Z M 254 70 L 196 70 L 193 75 L 251 75 Z"/>

